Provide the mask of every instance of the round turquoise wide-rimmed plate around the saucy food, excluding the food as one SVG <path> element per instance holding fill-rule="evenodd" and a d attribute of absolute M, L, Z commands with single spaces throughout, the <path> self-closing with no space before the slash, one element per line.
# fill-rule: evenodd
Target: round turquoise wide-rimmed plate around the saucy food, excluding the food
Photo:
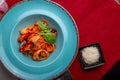
<path fill-rule="evenodd" d="M 19 52 L 19 30 L 39 19 L 46 19 L 58 31 L 56 50 L 47 60 L 33 61 Z M 25 80 L 47 80 L 63 73 L 78 50 L 78 31 L 74 20 L 52 1 L 33 0 L 20 3 L 0 23 L 0 59 L 15 76 Z"/>

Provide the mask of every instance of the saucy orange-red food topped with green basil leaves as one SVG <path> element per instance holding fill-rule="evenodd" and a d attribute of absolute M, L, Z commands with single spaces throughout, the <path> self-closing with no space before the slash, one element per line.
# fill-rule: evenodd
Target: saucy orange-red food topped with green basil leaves
<path fill-rule="evenodd" d="M 33 25 L 20 30 L 19 51 L 30 55 L 33 60 L 46 60 L 56 49 L 57 30 L 47 20 L 38 20 Z"/>

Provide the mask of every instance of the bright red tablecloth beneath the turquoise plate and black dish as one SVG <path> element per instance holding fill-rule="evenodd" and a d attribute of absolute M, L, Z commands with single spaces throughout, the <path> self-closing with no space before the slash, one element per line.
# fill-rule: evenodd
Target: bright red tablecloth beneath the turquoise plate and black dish
<path fill-rule="evenodd" d="M 6 0 L 9 8 L 20 0 Z M 54 0 L 73 16 L 80 46 L 99 42 L 105 64 L 92 70 L 81 68 L 78 56 L 69 70 L 74 80 L 100 80 L 120 59 L 120 5 L 114 0 Z"/>

